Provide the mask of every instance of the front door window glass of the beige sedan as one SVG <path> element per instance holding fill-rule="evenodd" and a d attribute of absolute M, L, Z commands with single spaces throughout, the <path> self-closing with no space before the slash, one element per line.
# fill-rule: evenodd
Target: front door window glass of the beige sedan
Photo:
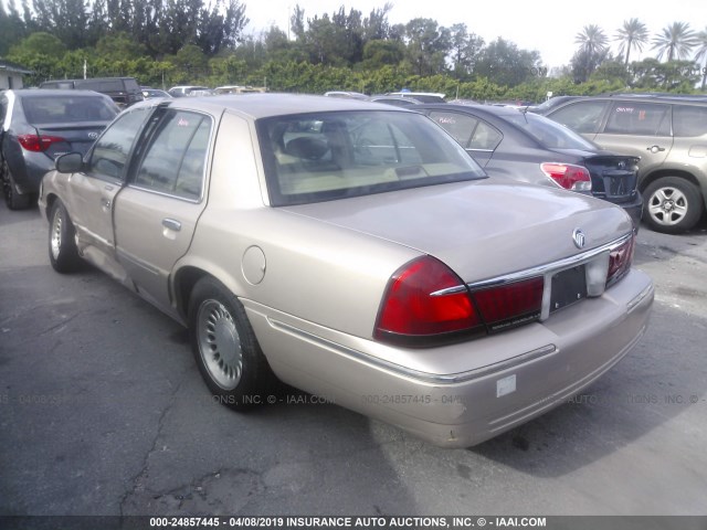
<path fill-rule="evenodd" d="M 87 172 L 123 180 L 128 155 L 147 115 L 148 108 L 139 108 L 119 116 L 96 141 L 88 159 Z"/>

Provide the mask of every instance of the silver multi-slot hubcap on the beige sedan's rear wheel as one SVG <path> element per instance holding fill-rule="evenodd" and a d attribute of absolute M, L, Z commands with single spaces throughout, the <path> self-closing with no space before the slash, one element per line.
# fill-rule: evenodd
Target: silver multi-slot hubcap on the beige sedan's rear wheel
<path fill-rule="evenodd" d="M 214 383 L 233 390 L 241 381 L 243 352 L 233 316 L 218 300 L 204 300 L 197 317 L 199 353 Z"/>

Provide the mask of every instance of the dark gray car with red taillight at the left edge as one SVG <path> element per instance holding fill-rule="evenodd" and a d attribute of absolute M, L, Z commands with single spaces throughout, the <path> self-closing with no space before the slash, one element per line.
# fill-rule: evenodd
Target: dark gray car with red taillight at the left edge
<path fill-rule="evenodd" d="M 108 96 L 92 91 L 0 94 L 0 179 L 8 208 L 28 208 L 54 159 L 86 152 L 117 114 Z"/>

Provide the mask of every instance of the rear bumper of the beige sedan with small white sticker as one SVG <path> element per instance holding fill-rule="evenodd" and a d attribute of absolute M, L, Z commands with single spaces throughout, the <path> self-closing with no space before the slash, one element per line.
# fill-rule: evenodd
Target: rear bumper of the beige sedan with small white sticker
<path fill-rule="evenodd" d="M 644 333 L 653 297 L 651 279 L 634 269 L 545 322 L 424 350 L 383 347 L 243 301 L 283 381 L 435 445 L 468 447 L 564 403 L 611 369 Z M 405 364 L 411 354 L 430 370 Z M 445 370 L 461 359 L 464 371 Z"/>

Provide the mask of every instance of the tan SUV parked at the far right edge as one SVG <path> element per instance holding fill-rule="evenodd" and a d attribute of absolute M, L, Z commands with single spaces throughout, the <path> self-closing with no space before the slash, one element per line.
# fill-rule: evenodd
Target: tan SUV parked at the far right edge
<path fill-rule="evenodd" d="M 546 116 L 603 148 L 641 157 L 643 221 L 653 230 L 678 233 L 700 221 L 707 200 L 707 97 L 579 97 Z"/>

